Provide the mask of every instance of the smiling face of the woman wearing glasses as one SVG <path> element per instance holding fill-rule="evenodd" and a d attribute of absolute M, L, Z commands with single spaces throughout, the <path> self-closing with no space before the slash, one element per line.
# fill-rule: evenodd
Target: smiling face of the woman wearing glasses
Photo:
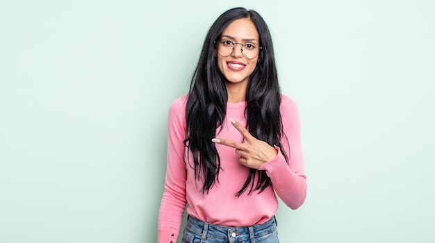
<path fill-rule="evenodd" d="M 222 56 L 220 53 L 224 53 L 222 50 L 224 48 L 228 49 L 231 42 L 244 45 L 242 47 L 241 44 L 234 44 L 233 52 L 229 56 Z M 247 85 L 249 75 L 254 72 L 258 62 L 258 55 L 252 59 L 245 56 L 251 58 L 252 56 L 247 54 L 248 51 L 252 52 L 252 50 L 248 49 L 252 47 L 258 49 L 259 43 L 258 31 L 250 19 L 236 19 L 224 29 L 221 39 L 217 42 L 215 54 L 217 56 L 217 66 L 224 77 L 227 78 L 227 86 Z M 245 50 L 245 56 L 243 56 L 242 48 Z"/>

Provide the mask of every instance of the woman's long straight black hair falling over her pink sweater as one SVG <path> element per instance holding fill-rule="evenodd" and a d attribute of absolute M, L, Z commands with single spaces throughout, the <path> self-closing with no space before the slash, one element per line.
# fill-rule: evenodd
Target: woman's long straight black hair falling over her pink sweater
<path fill-rule="evenodd" d="M 281 146 L 280 138 L 284 135 L 279 112 L 281 96 L 269 28 L 261 15 L 254 10 L 227 10 L 215 20 L 206 35 L 186 104 L 184 144 L 193 158 L 195 178 L 204 181 L 203 193 L 208 192 L 219 180 L 220 156 L 211 139 L 215 137 L 217 129 L 222 128 L 228 99 L 225 78 L 217 67 L 215 42 L 220 39 L 220 35 L 231 22 L 242 18 L 248 18 L 255 24 L 262 47 L 258 56 L 259 62 L 249 76 L 247 84 L 247 129 L 258 140 L 263 140 L 271 146 Z M 288 160 L 284 150 L 281 149 L 281 152 Z M 254 185 L 256 176 L 258 179 Z M 254 190 L 263 192 L 270 185 L 270 178 L 264 170 L 249 169 L 245 185 L 236 196 L 243 194 L 249 185 L 248 194 Z"/>

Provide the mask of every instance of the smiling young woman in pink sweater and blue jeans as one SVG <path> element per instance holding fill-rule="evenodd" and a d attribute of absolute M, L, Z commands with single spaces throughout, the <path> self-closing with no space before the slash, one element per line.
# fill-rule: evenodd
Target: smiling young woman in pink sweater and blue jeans
<path fill-rule="evenodd" d="M 190 91 L 170 106 L 158 242 L 279 242 L 277 196 L 304 203 L 295 102 L 280 94 L 268 26 L 233 8 L 211 26 Z M 275 194 L 276 193 L 276 194 Z"/>

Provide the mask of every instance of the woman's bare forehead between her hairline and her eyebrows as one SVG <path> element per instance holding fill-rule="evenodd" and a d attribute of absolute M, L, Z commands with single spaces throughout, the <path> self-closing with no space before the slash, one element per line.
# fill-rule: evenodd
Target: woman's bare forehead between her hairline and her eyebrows
<path fill-rule="evenodd" d="M 234 40 L 259 39 L 257 28 L 251 19 L 236 19 L 222 31 L 222 36 L 232 37 Z"/>

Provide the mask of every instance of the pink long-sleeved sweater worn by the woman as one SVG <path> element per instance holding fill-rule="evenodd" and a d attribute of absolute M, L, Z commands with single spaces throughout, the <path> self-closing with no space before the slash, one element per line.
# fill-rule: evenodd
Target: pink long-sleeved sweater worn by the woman
<path fill-rule="evenodd" d="M 222 170 L 219 182 L 211 187 L 208 194 L 200 192 L 201 181 L 195 181 L 194 170 L 187 161 L 188 150 L 183 144 L 186 135 L 187 95 L 180 97 L 170 106 L 167 121 L 167 169 L 165 190 L 158 215 L 158 243 L 177 242 L 181 219 L 186 208 L 192 217 L 222 226 L 249 226 L 268 221 L 277 212 L 279 198 L 292 209 L 299 208 L 306 196 L 306 177 L 301 150 L 299 112 L 295 102 L 281 95 L 281 116 L 286 137 L 281 139 L 282 148 L 277 148 L 274 160 L 263 164 L 272 185 L 258 194 L 254 191 L 240 197 L 235 194 L 243 187 L 249 168 L 240 165 L 240 156 L 234 149 L 216 144 Z M 246 102 L 227 103 L 227 118 L 223 129 L 217 129 L 216 137 L 243 141 L 242 135 L 228 118 L 236 119 L 243 126 Z M 286 151 L 288 164 L 281 153 Z M 190 156 L 191 160 L 191 156 Z M 193 162 L 190 161 L 190 165 Z M 249 190 L 249 188 L 248 188 Z"/>

